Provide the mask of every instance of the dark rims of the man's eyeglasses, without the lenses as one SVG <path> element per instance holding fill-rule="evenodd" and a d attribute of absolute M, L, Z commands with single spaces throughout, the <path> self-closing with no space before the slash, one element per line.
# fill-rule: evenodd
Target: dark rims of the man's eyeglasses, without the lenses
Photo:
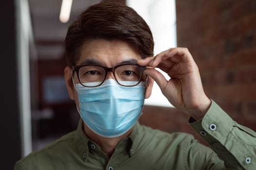
<path fill-rule="evenodd" d="M 73 79 L 74 79 L 74 73 L 75 73 L 75 71 L 76 71 L 76 72 L 77 72 L 77 76 L 78 76 L 79 83 L 80 83 L 82 86 L 84 86 L 84 87 L 98 87 L 98 86 L 102 85 L 102 84 L 105 82 L 106 77 L 107 77 L 107 73 L 108 73 L 109 71 L 111 71 L 111 72 L 113 72 L 113 75 L 114 75 L 114 77 L 115 77 L 115 79 L 116 79 L 116 82 L 117 82 L 119 85 L 121 85 L 121 84 L 118 82 L 117 78 L 116 78 L 115 70 L 116 70 L 118 67 L 127 66 L 127 65 L 138 66 L 138 68 L 140 68 L 140 73 L 141 73 L 141 74 L 140 74 L 140 77 L 139 77 L 139 81 L 138 81 L 138 83 L 136 84 L 136 85 L 138 85 L 138 84 L 140 83 L 140 81 L 141 81 L 141 78 L 142 78 L 142 75 L 143 75 L 143 71 L 146 69 L 146 66 L 140 66 L 140 65 L 138 65 L 138 64 L 136 64 L 136 63 L 120 64 L 120 65 L 117 65 L 117 66 L 115 66 L 115 67 L 113 67 L 113 68 L 106 68 L 106 67 L 104 67 L 104 66 L 92 65 L 92 64 L 79 65 L 79 66 L 72 66 L 72 77 L 73 77 Z M 97 67 L 103 68 L 103 69 L 105 70 L 105 77 L 104 77 L 103 81 L 102 81 L 99 85 L 95 85 L 95 86 L 86 86 L 86 85 L 83 85 L 82 82 L 80 81 L 79 69 L 82 68 L 82 67 L 84 67 L 84 66 L 97 66 Z M 132 87 L 132 86 L 136 86 L 136 85 L 121 85 L 121 86 Z"/>

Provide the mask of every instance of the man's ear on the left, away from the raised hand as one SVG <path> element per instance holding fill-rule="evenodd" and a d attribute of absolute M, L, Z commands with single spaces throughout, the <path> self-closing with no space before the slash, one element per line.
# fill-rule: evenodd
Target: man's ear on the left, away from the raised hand
<path fill-rule="evenodd" d="M 64 77 L 65 77 L 65 82 L 66 82 L 66 87 L 68 90 L 69 97 L 70 99 L 74 100 L 75 92 L 74 92 L 74 85 L 72 81 L 72 69 L 68 66 L 64 69 Z"/>

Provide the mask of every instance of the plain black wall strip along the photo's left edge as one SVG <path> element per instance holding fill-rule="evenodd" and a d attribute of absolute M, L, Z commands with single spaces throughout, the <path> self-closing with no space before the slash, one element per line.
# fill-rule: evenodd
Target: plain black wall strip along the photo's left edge
<path fill-rule="evenodd" d="M 0 16 L 0 160 L 2 170 L 12 170 L 21 157 L 14 0 L 0 5 Z"/>

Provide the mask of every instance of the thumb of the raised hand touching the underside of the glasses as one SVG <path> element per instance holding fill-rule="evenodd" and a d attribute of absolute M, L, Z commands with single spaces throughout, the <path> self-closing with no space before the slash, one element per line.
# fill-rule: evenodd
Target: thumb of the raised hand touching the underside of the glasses
<path fill-rule="evenodd" d="M 165 79 L 165 77 L 156 69 L 154 68 L 147 68 L 144 73 L 152 77 L 155 82 L 160 87 L 161 91 L 166 87 L 168 81 Z"/>

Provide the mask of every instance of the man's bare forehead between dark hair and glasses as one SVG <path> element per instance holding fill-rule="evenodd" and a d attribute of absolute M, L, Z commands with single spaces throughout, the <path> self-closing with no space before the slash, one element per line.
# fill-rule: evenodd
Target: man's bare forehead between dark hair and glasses
<path fill-rule="evenodd" d="M 77 65 L 95 61 L 106 67 L 114 67 L 126 60 L 138 61 L 141 56 L 129 43 L 121 40 L 96 39 L 85 41 Z"/>

